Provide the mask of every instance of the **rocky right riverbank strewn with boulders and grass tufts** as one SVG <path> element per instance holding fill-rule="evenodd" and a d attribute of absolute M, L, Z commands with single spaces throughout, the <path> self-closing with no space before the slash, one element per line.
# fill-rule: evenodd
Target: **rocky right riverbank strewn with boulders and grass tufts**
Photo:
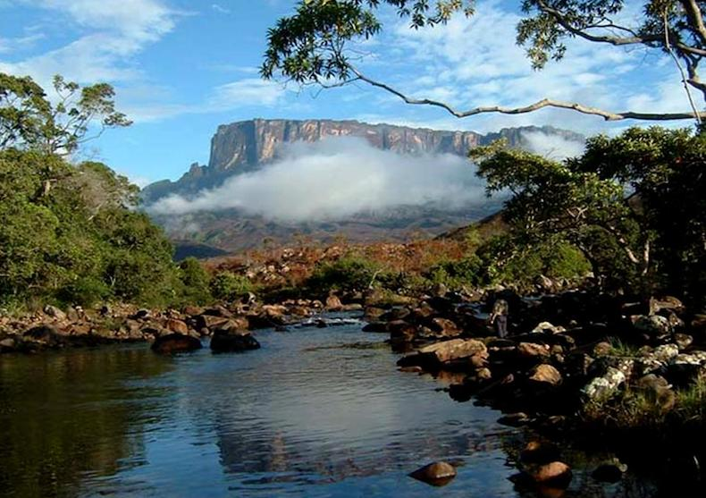
<path fill-rule="evenodd" d="M 506 339 L 487 324 L 488 304 L 500 298 L 510 302 Z M 400 370 L 450 380 L 451 398 L 500 409 L 501 423 L 601 450 L 627 446 L 638 460 L 650 454 L 685 489 L 703 479 L 705 316 L 675 298 L 626 302 L 580 291 L 534 299 L 506 291 L 482 302 L 454 295 L 367 308 L 375 318 L 365 330 L 389 334 L 406 353 Z M 518 457 L 518 485 L 566 485 L 560 453 L 531 442 Z M 607 462 L 596 479 L 619 480 L 624 468 Z"/>

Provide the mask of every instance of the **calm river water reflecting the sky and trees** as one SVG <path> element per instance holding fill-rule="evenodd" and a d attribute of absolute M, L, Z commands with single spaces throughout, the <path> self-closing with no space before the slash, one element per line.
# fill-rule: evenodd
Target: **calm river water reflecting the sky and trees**
<path fill-rule="evenodd" d="M 256 334 L 261 350 L 147 346 L 0 358 L 7 496 L 518 496 L 498 412 L 395 370 L 357 325 Z M 407 476 L 454 459 L 433 488 Z M 637 496 L 592 487 L 567 496 Z M 633 490 L 635 491 L 635 490 Z"/>

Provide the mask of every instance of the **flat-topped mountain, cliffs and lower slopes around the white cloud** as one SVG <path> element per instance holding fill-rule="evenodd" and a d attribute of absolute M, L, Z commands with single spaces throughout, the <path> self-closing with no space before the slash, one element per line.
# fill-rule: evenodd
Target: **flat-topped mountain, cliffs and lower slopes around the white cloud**
<path fill-rule="evenodd" d="M 208 165 L 191 165 L 178 181 L 165 180 L 148 185 L 142 191 L 142 198 L 147 207 L 174 194 L 187 200 L 198 198 L 199 192 L 213 190 L 231 177 L 277 164 L 286 149 L 283 146 L 297 142 L 313 144 L 329 137 L 355 137 L 365 139 L 374 149 L 400 156 L 449 154 L 465 157 L 469 149 L 500 138 L 507 139 L 510 147 L 532 148 L 529 138 L 533 134 L 565 141 L 584 140 L 574 132 L 548 126 L 506 128 L 483 135 L 475 131 L 438 131 L 357 121 L 255 119 L 234 122 L 218 127 L 211 139 Z M 381 165 L 381 168 L 387 167 L 390 166 Z M 430 172 L 436 174 L 431 169 Z M 273 196 L 279 198 L 281 194 L 282 190 L 277 190 Z M 316 192 L 313 191 L 312 195 Z M 165 214 L 164 210 L 153 215 L 174 240 L 239 250 L 260 247 L 264 240 L 287 243 L 301 236 L 318 241 L 332 241 L 340 236 L 351 242 L 404 241 L 410 234 L 434 236 L 473 223 L 499 207 L 498 200 L 461 208 L 416 202 L 383 212 L 357 213 L 346 219 L 298 222 L 270 219 L 262 213 L 250 213 L 248 209 L 221 206 L 214 210 L 189 212 L 188 215 Z"/>

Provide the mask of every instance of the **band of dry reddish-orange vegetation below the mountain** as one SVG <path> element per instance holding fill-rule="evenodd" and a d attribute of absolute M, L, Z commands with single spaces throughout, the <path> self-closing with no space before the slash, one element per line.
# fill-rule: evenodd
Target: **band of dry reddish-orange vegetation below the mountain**
<path fill-rule="evenodd" d="M 317 263 L 341 257 L 360 257 L 390 272 L 420 274 L 441 261 L 459 259 L 466 254 L 466 241 L 450 239 L 408 243 L 375 242 L 318 245 L 307 242 L 295 247 L 250 250 L 229 257 L 206 261 L 211 273 L 231 272 L 247 275 L 255 283 L 292 285 L 303 283 Z"/>

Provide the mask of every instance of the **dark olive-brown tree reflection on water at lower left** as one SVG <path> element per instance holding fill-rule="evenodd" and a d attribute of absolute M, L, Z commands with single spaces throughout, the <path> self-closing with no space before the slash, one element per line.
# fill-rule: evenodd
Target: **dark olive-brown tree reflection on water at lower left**
<path fill-rule="evenodd" d="M 86 475 L 112 476 L 144 452 L 158 392 L 122 384 L 164 373 L 140 349 L 72 350 L 0 359 L 0 489 L 71 496 Z"/>

